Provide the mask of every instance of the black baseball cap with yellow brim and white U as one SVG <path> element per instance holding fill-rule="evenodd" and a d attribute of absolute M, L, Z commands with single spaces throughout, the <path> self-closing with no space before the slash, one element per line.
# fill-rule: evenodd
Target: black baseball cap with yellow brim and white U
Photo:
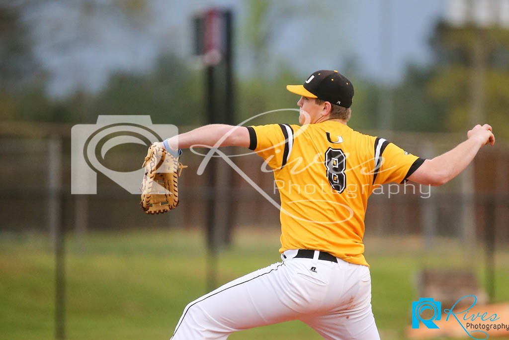
<path fill-rule="evenodd" d="M 329 101 L 344 108 L 352 106 L 352 82 L 336 70 L 316 71 L 303 85 L 287 85 L 287 90 L 304 97 Z"/>

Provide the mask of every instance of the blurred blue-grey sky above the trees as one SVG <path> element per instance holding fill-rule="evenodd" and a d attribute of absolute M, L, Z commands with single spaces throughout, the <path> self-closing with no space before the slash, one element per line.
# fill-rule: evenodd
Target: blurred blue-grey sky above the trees
<path fill-rule="evenodd" d="M 431 62 L 427 40 L 436 20 L 445 15 L 446 1 L 318 0 L 328 9 L 324 20 L 309 19 L 306 13 L 294 20 L 280 18 L 272 53 L 303 76 L 354 60 L 366 78 L 397 82 L 408 63 Z M 111 72 L 150 70 L 161 51 L 188 57 L 190 17 L 199 9 L 230 7 L 239 29 L 247 14 L 241 0 L 148 2 L 147 10 L 135 17 L 105 0 L 54 0 L 29 8 L 25 20 L 36 56 L 49 72 L 50 93 L 65 96 L 77 88 L 98 91 Z M 89 7 L 95 10 L 83 16 L 83 8 Z M 237 53 L 238 74 L 248 68 L 243 57 L 249 46 L 243 48 Z"/>

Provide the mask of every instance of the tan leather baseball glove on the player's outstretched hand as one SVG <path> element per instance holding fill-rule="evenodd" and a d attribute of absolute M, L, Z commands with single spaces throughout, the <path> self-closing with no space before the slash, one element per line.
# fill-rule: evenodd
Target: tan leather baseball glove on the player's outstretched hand
<path fill-rule="evenodd" d="M 172 150 L 173 151 L 173 150 Z M 147 214 L 162 214 L 179 205 L 178 179 L 183 168 L 179 163 L 182 151 L 167 151 L 159 143 L 149 147 L 143 166 L 142 200 L 139 205 Z"/>

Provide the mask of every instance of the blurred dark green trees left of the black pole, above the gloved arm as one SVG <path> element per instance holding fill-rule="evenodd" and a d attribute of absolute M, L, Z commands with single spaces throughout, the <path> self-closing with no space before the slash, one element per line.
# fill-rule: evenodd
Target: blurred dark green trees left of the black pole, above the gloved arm
<path fill-rule="evenodd" d="M 150 115 L 154 123 L 198 125 L 204 123 L 202 83 L 199 72 L 165 55 L 153 71 L 115 73 L 99 94 L 78 92 L 66 106 L 80 122 L 94 123 L 99 115 Z"/>

